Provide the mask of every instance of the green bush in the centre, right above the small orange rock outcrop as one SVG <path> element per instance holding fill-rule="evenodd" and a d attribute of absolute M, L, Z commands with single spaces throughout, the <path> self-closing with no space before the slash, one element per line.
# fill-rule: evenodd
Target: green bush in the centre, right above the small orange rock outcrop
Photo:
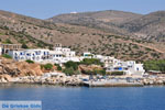
<path fill-rule="evenodd" d="M 85 58 L 82 62 L 80 62 L 80 64 L 84 64 L 84 65 L 92 65 L 92 64 L 102 65 L 102 63 L 96 58 Z"/>

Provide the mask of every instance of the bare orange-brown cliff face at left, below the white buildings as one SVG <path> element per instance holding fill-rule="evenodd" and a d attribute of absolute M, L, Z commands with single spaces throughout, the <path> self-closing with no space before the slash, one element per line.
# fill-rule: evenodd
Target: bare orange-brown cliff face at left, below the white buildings
<path fill-rule="evenodd" d="M 28 64 L 26 62 L 14 62 L 13 59 L 0 58 L 0 75 L 16 76 L 41 76 L 43 72 L 38 64 Z"/>

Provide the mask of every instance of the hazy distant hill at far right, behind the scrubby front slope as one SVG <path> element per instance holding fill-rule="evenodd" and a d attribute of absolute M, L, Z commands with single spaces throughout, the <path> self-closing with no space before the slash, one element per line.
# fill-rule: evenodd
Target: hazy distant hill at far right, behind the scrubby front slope
<path fill-rule="evenodd" d="M 157 11 L 122 23 L 134 35 L 150 41 L 165 42 L 165 11 Z"/>

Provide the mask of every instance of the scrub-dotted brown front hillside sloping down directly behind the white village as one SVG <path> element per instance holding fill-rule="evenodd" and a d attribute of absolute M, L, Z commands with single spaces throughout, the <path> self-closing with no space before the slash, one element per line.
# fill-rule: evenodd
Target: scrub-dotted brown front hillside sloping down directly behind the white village
<path fill-rule="evenodd" d="M 121 59 L 165 58 L 164 44 L 84 25 L 53 23 L 6 11 L 0 11 L 0 41 L 42 48 L 52 48 L 55 43 L 62 43 L 79 55 L 88 51 Z"/>

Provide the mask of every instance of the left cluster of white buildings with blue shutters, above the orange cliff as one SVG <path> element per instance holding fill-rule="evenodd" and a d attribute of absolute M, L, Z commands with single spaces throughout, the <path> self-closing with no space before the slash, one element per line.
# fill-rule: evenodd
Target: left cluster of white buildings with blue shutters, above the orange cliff
<path fill-rule="evenodd" d="M 76 53 L 70 48 L 55 47 L 54 51 L 50 50 L 23 50 L 23 51 L 11 51 L 10 56 L 15 61 L 34 61 L 36 63 L 52 63 L 52 64 L 64 64 L 69 61 L 80 62 L 80 57 L 76 56 Z"/>

